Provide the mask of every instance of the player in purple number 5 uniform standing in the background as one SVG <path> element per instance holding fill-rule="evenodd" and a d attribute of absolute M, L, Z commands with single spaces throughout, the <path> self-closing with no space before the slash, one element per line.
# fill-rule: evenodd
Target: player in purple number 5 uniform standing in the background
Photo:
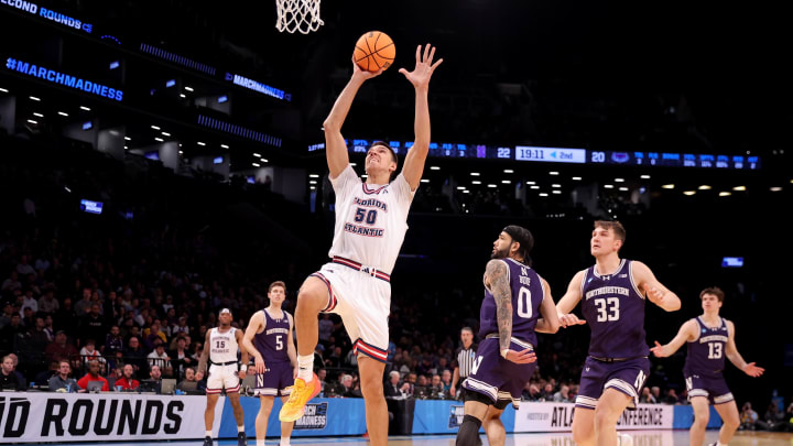
<path fill-rule="evenodd" d="M 261 403 L 256 418 L 257 445 L 264 444 L 268 420 L 275 396 L 286 402 L 297 373 L 297 352 L 292 315 L 281 309 L 286 285 L 273 282 L 268 290 L 270 305 L 256 312 L 246 328 L 242 344 L 256 360 L 256 394 Z M 294 422 L 281 422 L 281 444 L 289 445 Z"/>

